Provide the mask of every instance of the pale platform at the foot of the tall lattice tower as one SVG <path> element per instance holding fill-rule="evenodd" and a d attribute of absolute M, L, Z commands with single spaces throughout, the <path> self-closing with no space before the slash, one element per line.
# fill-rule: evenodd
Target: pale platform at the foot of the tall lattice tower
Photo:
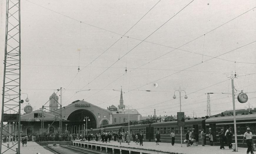
<path fill-rule="evenodd" d="M 7 143 L 3 143 L 3 144 L 7 146 Z M 10 146 L 12 146 L 11 142 L 10 142 Z M 21 146 L 20 147 L 20 153 L 21 154 L 36 154 L 36 153 L 40 153 L 40 154 L 54 154 L 51 151 L 46 150 L 45 148 L 43 148 L 41 145 L 37 144 L 36 142 L 31 142 L 30 141 L 30 142 L 27 142 L 27 146 L 26 147 L 22 147 L 22 144 L 20 146 Z M 14 150 L 13 151 L 13 150 L 7 150 L 7 148 L 5 146 L 2 146 L 2 151 L 1 152 L 3 153 L 5 150 L 7 150 L 5 152 L 6 154 L 16 154 L 16 147 L 18 147 L 18 144 L 11 148 L 11 149 Z"/>

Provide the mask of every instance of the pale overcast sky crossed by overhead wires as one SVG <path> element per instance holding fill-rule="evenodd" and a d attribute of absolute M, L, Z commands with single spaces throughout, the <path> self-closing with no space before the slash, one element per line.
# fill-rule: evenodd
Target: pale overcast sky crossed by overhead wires
<path fill-rule="evenodd" d="M 0 10 L 3 60 L 5 0 Z M 35 109 L 60 87 L 63 106 L 84 99 L 107 109 L 122 86 L 126 106 L 169 116 L 180 110 L 180 88 L 188 97 L 181 92 L 181 111 L 201 117 L 209 92 L 212 115 L 233 109 L 227 75 L 236 73 L 235 97 L 243 90 L 249 98 L 235 99 L 236 109 L 256 107 L 255 17 L 253 0 L 24 0 L 21 92 Z"/>

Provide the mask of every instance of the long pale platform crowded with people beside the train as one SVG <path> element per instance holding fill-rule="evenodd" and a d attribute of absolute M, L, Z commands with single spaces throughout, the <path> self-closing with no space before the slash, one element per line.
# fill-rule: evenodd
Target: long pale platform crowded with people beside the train
<path fill-rule="evenodd" d="M 167 154 L 167 153 L 179 153 L 179 154 L 244 154 L 246 153 L 247 148 L 238 147 L 238 152 L 232 152 L 232 149 L 229 149 L 225 146 L 225 150 L 220 149 L 220 146 L 210 146 L 210 145 L 198 145 L 198 146 L 190 146 L 187 147 L 185 144 L 177 144 L 175 143 L 172 146 L 170 143 L 159 143 L 159 146 L 156 145 L 155 142 L 143 142 L 143 146 L 136 145 L 134 142 L 131 142 L 130 145 L 127 143 L 122 143 L 120 145 L 118 142 L 111 141 L 110 143 L 102 143 L 96 141 L 73 141 L 73 145 L 89 148 L 89 149 L 101 149 L 104 152 L 112 152 L 114 154 L 117 153 L 117 149 L 122 154 L 122 151 L 129 151 L 129 153 L 150 153 L 150 154 Z M 107 149 L 107 151 L 106 151 Z M 115 151 L 115 152 L 113 152 Z"/>

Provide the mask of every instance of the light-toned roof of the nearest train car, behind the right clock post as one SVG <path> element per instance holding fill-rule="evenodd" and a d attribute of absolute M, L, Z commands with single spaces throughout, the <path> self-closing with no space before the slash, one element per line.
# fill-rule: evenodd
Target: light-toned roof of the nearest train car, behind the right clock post
<path fill-rule="evenodd" d="M 256 119 L 256 114 L 245 114 L 245 115 L 237 115 L 236 120 L 254 120 Z M 220 122 L 220 121 L 234 121 L 233 116 L 220 116 L 220 117 L 212 117 L 207 119 L 206 123 L 212 122 Z"/>

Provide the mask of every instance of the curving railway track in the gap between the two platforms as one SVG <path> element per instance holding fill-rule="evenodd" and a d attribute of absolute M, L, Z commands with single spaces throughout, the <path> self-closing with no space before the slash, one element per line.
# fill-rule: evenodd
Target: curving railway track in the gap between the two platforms
<path fill-rule="evenodd" d="M 102 154 L 99 153 L 97 151 L 89 151 L 86 149 L 79 149 L 79 148 L 75 148 L 69 145 L 66 146 L 56 146 L 56 147 L 51 147 L 51 146 L 47 146 L 48 148 L 50 148 L 51 150 L 53 150 L 54 152 L 58 153 L 58 154 Z"/>

